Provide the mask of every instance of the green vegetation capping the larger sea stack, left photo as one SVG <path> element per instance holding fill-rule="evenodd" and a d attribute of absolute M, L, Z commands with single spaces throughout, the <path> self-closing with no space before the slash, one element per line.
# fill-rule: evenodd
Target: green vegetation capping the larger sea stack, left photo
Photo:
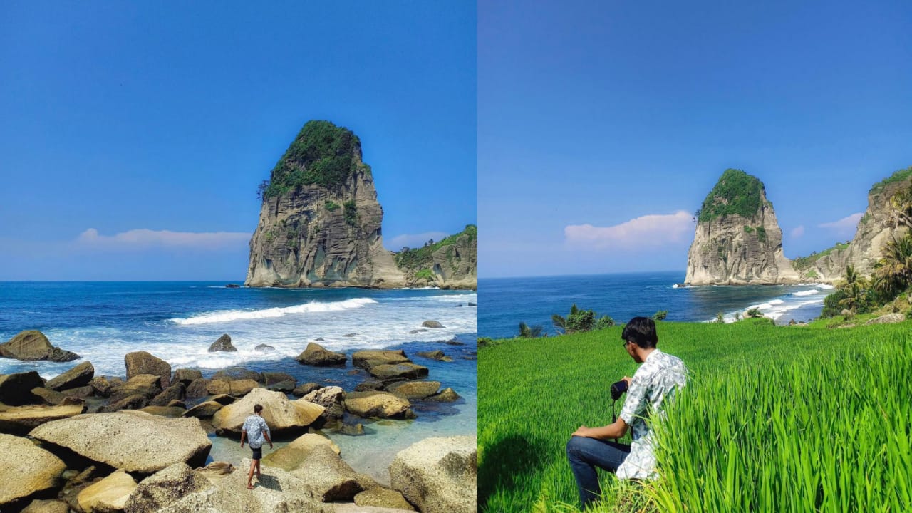
<path fill-rule="evenodd" d="M 260 184 L 263 199 L 286 194 L 302 185 L 337 190 L 358 171 L 370 166 L 358 162 L 358 136 L 330 121 L 307 121 L 295 141 L 276 162 L 268 182 Z"/>

